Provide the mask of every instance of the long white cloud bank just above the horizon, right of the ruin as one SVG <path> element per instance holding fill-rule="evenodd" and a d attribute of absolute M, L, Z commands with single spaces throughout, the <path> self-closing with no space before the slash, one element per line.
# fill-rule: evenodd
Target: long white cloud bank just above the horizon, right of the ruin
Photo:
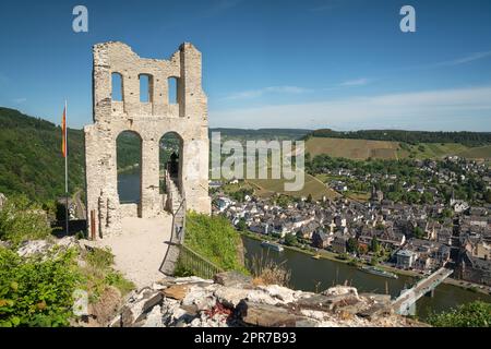
<path fill-rule="evenodd" d="M 212 127 L 491 131 L 491 86 L 212 110 Z"/>

